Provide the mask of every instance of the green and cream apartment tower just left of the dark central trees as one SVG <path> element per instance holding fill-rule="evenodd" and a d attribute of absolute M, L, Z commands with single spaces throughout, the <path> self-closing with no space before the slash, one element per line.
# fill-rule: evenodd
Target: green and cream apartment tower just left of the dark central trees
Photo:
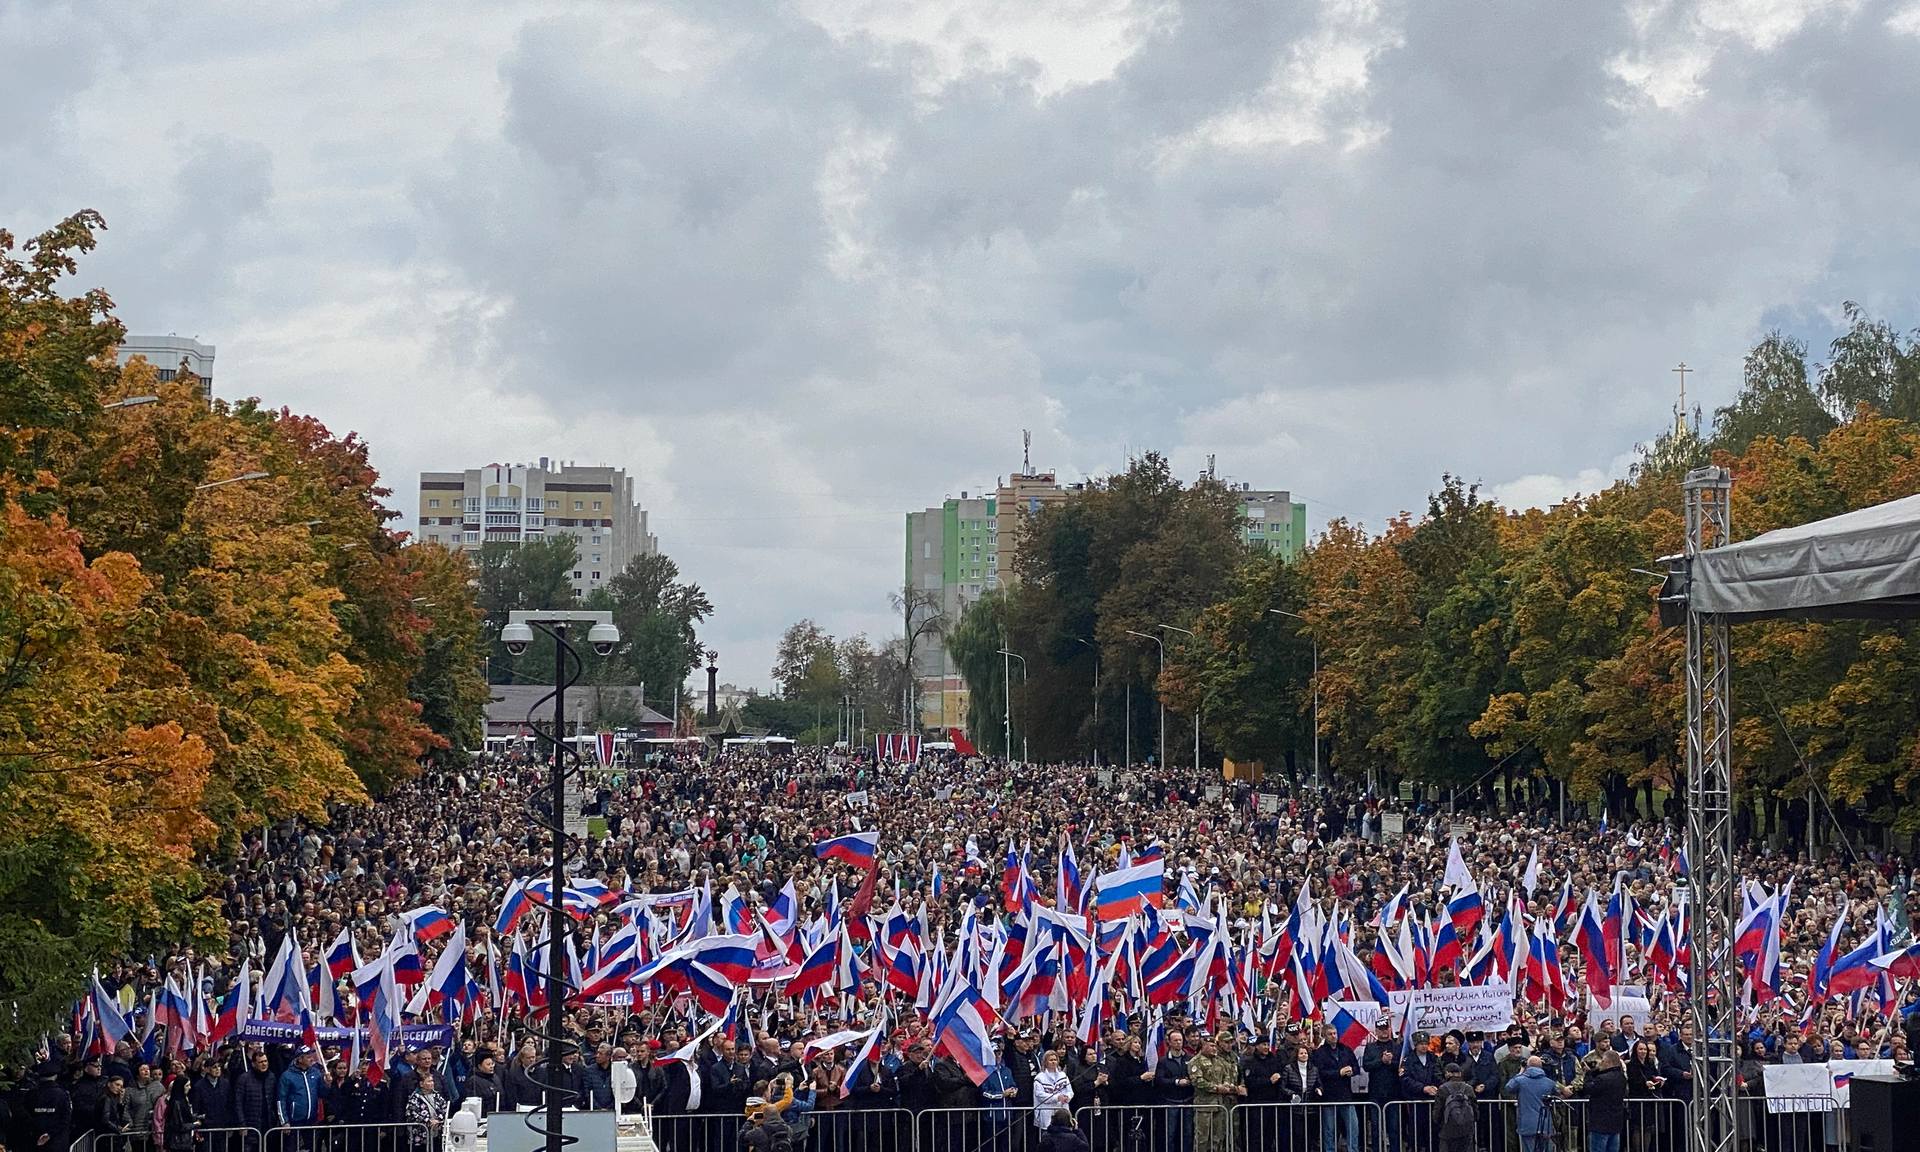
<path fill-rule="evenodd" d="M 989 588 L 1000 586 L 998 520 L 991 495 L 960 493 L 937 509 L 906 513 L 904 586 L 933 593 L 952 626 Z M 966 724 L 968 691 L 960 670 L 941 641 L 924 643 L 914 653 L 914 680 L 920 684 L 920 722 L 925 728 Z"/>

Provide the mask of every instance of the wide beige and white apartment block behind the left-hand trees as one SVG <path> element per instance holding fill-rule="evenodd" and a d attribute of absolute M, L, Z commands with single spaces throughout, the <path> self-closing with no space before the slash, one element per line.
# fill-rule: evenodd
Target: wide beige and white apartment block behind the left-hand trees
<path fill-rule="evenodd" d="M 420 472 L 417 522 L 417 540 L 467 551 L 572 536 L 580 551 L 572 584 L 580 595 L 605 588 L 630 559 L 659 549 L 632 476 L 547 457 L 538 465 Z"/>

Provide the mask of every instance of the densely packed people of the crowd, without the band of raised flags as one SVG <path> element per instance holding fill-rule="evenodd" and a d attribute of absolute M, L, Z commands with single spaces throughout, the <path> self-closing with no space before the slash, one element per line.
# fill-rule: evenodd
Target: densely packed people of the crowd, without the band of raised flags
<path fill-rule="evenodd" d="M 309 962 L 342 929 L 359 954 L 372 956 L 394 935 L 396 918 L 422 904 L 467 925 L 468 966 L 484 972 L 490 950 L 495 962 L 505 952 L 490 935 L 509 887 L 547 870 L 549 833 L 538 801 L 543 780 L 545 768 L 524 756 L 482 756 L 463 770 L 428 770 L 372 806 L 340 808 L 328 824 L 253 833 L 219 872 L 225 948 L 129 958 L 102 972 L 102 983 L 131 1008 L 144 1006 L 167 977 L 217 1000 L 242 962 L 259 972 L 286 933 L 296 933 Z M 885 764 L 799 751 L 622 762 L 591 780 L 595 828 L 568 845 L 570 876 L 636 895 L 733 885 L 755 906 L 770 906 L 791 883 L 797 920 L 810 922 L 831 897 L 845 900 L 864 879 L 820 858 L 814 845 L 852 828 L 872 829 L 879 833 L 872 908 L 899 900 L 920 914 L 929 939 L 952 937 L 968 910 L 1000 914 L 1010 849 L 1031 847 L 1035 887 L 1048 899 L 1060 843 L 1075 847 L 1089 876 L 1158 843 L 1169 906 L 1183 887 L 1244 931 L 1283 920 L 1308 885 L 1309 899 L 1329 912 L 1340 908 L 1361 954 L 1380 906 L 1402 889 L 1415 914 L 1444 914 L 1452 843 L 1494 910 L 1517 895 L 1530 914 L 1549 916 L 1565 881 L 1582 893 L 1619 883 L 1636 906 L 1665 908 L 1684 881 L 1672 851 L 1678 829 L 1663 820 L 1559 822 L 1544 801 L 1453 812 L 1340 787 L 1223 781 L 1190 766 Z M 1528 862 L 1540 866 L 1532 891 L 1523 883 Z M 1916 1037 L 1905 1031 L 1912 1020 L 1901 1012 L 1905 1004 L 1809 1004 L 1805 995 L 1836 918 L 1849 920 L 1849 941 L 1870 935 L 1882 918 L 1907 931 L 1914 893 L 1905 860 L 1866 851 L 1811 858 L 1749 839 L 1740 868 L 1766 889 L 1791 883 L 1780 933 L 1782 996 L 1747 1018 L 1741 1079 L 1753 1085 L 1768 1066 L 1828 1054 L 1907 1060 Z M 572 931 L 576 948 L 589 954 L 595 935 L 612 931 L 612 912 L 580 918 Z M 432 947 L 424 962 L 432 966 Z M 1609 1135 L 1601 1131 L 1613 1127 L 1607 1100 L 1690 1098 L 1684 998 L 1655 985 L 1644 1020 L 1603 1014 L 1596 1027 L 1574 950 L 1567 950 L 1567 973 L 1569 1006 L 1523 998 L 1507 1031 L 1404 1037 L 1382 1020 L 1359 1050 L 1319 1021 L 1290 1020 L 1277 991 L 1252 1031 L 1213 1014 L 1190 1020 L 1175 1004 L 1152 1020 L 1121 1012 L 1091 1048 L 1075 1035 L 1071 1014 L 1050 1012 L 1006 1023 L 983 1081 L 935 1050 L 927 1021 L 879 981 L 810 1002 L 766 989 L 753 998 L 745 1035 L 712 1035 L 693 1052 L 687 1046 L 701 1018 L 684 998 L 584 1004 L 564 1016 L 570 1039 L 553 1069 L 541 1025 L 497 1002 L 459 1021 L 451 1044 L 396 1054 L 386 1069 L 371 1066 L 365 1044 L 311 1050 L 236 1039 L 217 1050 L 180 1050 L 159 1037 L 142 1050 L 129 1037 L 113 1052 L 88 1054 L 86 1037 L 61 1035 L 8 1073 L 13 1087 L 0 1092 L 0 1140 L 8 1150 L 79 1139 L 98 1148 L 106 1140 L 111 1152 L 150 1140 L 186 1152 L 248 1139 L 221 1129 L 411 1121 L 369 1137 L 397 1148 L 438 1140 L 449 1108 L 465 1098 L 478 1098 L 486 1112 L 511 1112 L 561 1092 L 568 1106 L 618 1102 L 660 1117 L 724 1117 L 724 1135 L 712 1125 L 657 1129 L 668 1148 L 804 1142 L 837 1152 L 858 1148 L 854 1140 L 904 1140 L 885 1127 L 899 1121 L 881 1119 L 895 1116 L 891 1110 L 920 1116 L 939 1108 L 972 1110 L 972 1127 L 918 1135 L 956 1148 L 989 1137 L 1021 1152 L 1150 1139 L 1152 1146 L 1188 1152 L 1236 1139 L 1288 1150 L 1311 1142 L 1323 1152 L 1344 1142 L 1357 1152 L 1361 1121 L 1342 1108 L 1404 1102 L 1379 1112 L 1388 1117 L 1384 1137 L 1427 1152 L 1488 1144 L 1484 1121 L 1467 1142 L 1446 1129 L 1448 1100 L 1465 1096 L 1513 1100 L 1515 1117 L 1501 1121 L 1507 1127 L 1496 1139 L 1530 1150 L 1536 1133 L 1528 1117 L 1546 1116 L 1549 1098 L 1584 1100 L 1588 1137 Z M 854 1046 L 808 1044 L 858 1027 L 885 1029 L 866 1062 L 856 1064 Z M 1323 1104 L 1327 1116 L 1313 1117 L 1308 1133 L 1296 1121 L 1258 1121 L 1260 1110 L 1242 1108 L 1261 1102 Z M 1121 1119 L 1146 1104 L 1217 1104 L 1219 1112 Z M 1077 1123 L 1091 1108 L 1100 1119 Z M 1407 1108 L 1417 1108 L 1419 1119 L 1402 1131 Z M 1657 1125 L 1668 1114 L 1647 1116 Z M 1532 1127 L 1546 1133 L 1551 1125 L 1536 1119 Z M 1613 1146 L 1601 1140 L 1596 1148 Z M 885 1148 L 874 1144 L 874 1152 Z"/>

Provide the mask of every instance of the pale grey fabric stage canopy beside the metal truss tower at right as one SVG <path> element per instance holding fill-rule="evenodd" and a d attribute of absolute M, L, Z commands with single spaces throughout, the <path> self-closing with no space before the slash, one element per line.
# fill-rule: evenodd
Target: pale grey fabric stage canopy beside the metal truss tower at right
<path fill-rule="evenodd" d="M 1707 549 L 1692 584 L 1682 557 L 1667 564 L 1663 601 L 1736 622 L 1920 616 L 1920 495 Z"/>

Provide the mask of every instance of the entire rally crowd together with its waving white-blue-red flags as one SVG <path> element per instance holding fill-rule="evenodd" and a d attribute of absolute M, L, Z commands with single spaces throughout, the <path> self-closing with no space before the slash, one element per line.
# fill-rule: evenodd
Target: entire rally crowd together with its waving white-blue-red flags
<path fill-rule="evenodd" d="M 1615 1071 L 1636 1096 L 1692 1094 L 1672 812 L 1561 822 L 1544 793 L 1453 808 L 1190 766 L 808 749 L 588 778 L 559 893 L 545 768 L 522 756 L 255 833 L 221 872 L 227 947 L 92 973 L 71 1027 L 12 1073 L 8 1146 L 175 1148 L 182 1125 L 547 1092 L 756 1117 L 749 1142 L 985 1108 L 1066 1146 L 1085 1137 L 1056 1139 L 1052 1114 L 1094 1102 L 1434 1104 L 1453 1081 L 1524 1098 L 1540 1075 L 1567 1094 Z M 1908 864 L 1753 837 L 1740 856 L 1741 1079 L 1905 1062 Z M 555 925 L 570 1041 L 549 1066 Z M 1167 1133 L 1217 1137 L 1206 1117 Z"/>

